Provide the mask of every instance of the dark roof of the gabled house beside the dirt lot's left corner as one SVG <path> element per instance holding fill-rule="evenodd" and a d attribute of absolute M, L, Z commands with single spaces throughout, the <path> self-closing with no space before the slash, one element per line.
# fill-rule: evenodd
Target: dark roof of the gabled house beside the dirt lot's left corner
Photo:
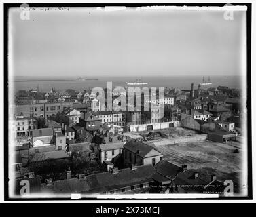
<path fill-rule="evenodd" d="M 129 151 L 132 151 L 133 153 L 137 153 L 137 155 L 141 157 L 145 157 L 145 155 L 147 155 L 147 153 L 149 153 L 151 150 L 158 151 L 153 146 L 150 146 L 143 142 L 134 141 L 134 140 L 130 140 L 126 142 L 126 144 L 124 144 L 124 148 L 128 149 Z M 139 151 L 139 153 L 137 151 Z M 162 153 L 160 153 L 159 151 L 158 153 L 159 155 L 162 155 Z"/>

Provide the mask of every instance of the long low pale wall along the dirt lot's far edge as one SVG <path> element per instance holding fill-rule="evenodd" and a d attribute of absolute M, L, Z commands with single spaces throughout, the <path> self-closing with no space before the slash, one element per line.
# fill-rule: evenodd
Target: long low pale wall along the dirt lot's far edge
<path fill-rule="evenodd" d="M 153 142 L 153 144 L 155 144 L 156 146 L 160 146 L 160 145 L 175 144 L 175 143 L 182 143 L 182 142 L 204 141 L 206 139 L 207 139 L 207 134 L 200 134 L 195 136 L 182 136 L 182 137 L 169 138 L 164 140 L 155 140 L 151 142 Z"/>

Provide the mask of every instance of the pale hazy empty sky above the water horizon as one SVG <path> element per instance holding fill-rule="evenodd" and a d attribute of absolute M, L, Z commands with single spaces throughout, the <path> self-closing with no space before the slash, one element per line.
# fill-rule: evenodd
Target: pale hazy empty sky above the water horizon
<path fill-rule="evenodd" d="M 10 10 L 14 75 L 241 75 L 246 12 Z"/>

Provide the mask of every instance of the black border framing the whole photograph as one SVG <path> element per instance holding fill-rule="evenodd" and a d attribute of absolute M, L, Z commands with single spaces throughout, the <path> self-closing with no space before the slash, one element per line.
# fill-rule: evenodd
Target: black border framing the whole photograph
<path fill-rule="evenodd" d="M 251 138 L 251 7 L 252 3 L 231 3 L 232 5 L 246 6 L 246 108 L 247 108 L 247 174 L 248 174 L 248 194 L 245 197 L 219 197 L 219 198 L 206 198 L 203 200 L 238 200 L 238 199 L 253 199 L 253 182 L 252 182 L 252 138 Z M 20 7 L 22 3 L 4 3 L 3 16 L 4 16 L 4 200 L 5 201 L 62 201 L 70 199 L 67 198 L 10 198 L 8 191 L 8 155 L 9 155 L 9 138 L 8 138 L 8 119 L 9 119 L 9 102 L 8 102 L 8 10 L 12 7 Z M 29 3 L 30 7 L 105 7 L 105 6 L 126 6 L 126 7 L 145 7 L 145 6 L 215 6 L 222 7 L 225 3 Z M 181 198 L 168 198 L 168 199 L 97 199 L 97 198 L 81 198 L 79 200 L 105 200 L 105 201 L 122 201 L 122 200 L 201 200 L 195 199 L 181 199 Z"/>

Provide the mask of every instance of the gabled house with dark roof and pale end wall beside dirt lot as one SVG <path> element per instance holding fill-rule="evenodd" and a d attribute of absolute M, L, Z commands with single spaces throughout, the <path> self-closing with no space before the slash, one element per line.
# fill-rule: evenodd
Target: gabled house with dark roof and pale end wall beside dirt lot
<path fill-rule="evenodd" d="M 162 153 L 155 146 L 130 140 L 124 144 L 123 160 L 124 165 L 156 165 L 162 160 Z"/>

